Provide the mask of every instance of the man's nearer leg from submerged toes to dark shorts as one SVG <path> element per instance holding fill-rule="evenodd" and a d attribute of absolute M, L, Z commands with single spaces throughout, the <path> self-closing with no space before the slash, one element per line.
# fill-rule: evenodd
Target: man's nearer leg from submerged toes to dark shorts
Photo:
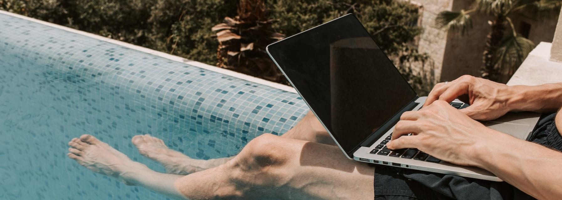
<path fill-rule="evenodd" d="M 335 146 L 271 134 L 253 139 L 224 165 L 183 177 L 152 171 L 93 136 L 69 145 L 69 157 L 80 165 L 171 197 L 373 198 L 374 168 L 346 159 Z"/>

